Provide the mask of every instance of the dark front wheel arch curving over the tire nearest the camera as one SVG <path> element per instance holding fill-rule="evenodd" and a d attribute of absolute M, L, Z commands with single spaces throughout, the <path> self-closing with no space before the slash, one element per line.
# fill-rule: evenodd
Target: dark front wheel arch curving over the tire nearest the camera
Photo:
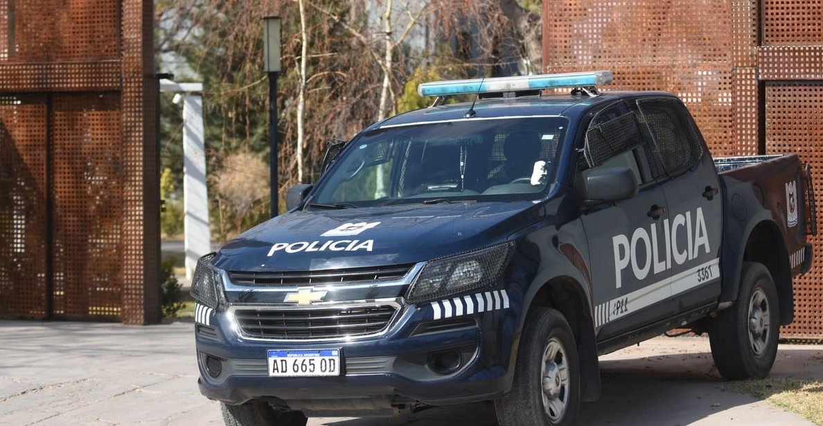
<path fill-rule="evenodd" d="M 583 285 L 570 276 L 557 276 L 540 286 L 524 300 L 524 313 L 532 308 L 554 308 L 569 322 L 577 342 L 580 361 L 580 397 L 596 401 L 600 396 L 600 367 L 597 363 L 597 340 L 594 335 L 592 309 Z M 519 330 L 528 315 L 522 315 Z"/>

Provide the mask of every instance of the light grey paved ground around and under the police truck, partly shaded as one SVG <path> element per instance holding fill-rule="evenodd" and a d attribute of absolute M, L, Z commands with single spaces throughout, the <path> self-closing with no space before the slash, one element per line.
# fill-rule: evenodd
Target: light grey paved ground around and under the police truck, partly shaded
<path fill-rule="evenodd" d="M 122 326 L 0 321 L 0 424 L 222 424 L 200 396 L 193 324 Z M 658 338 L 602 357 L 603 394 L 580 426 L 812 426 L 723 391 L 704 338 Z M 823 346 L 781 345 L 776 377 L 823 379 Z M 491 405 L 431 409 L 412 419 L 309 419 L 313 426 L 495 424 Z"/>

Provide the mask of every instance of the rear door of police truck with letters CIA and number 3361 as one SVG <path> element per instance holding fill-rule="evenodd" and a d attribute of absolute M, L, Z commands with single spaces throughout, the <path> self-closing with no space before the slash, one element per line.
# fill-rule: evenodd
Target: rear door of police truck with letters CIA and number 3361
<path fill-rule="evenodd" d="M 654 178 L 666 194 L 663 242 L 672 295 L 681 308 L 716 300 L 723 232 L 722 197 L 711 156 L 694 121 L 676 98 L 637 101 L 641 128 L 651 138 Z"/>

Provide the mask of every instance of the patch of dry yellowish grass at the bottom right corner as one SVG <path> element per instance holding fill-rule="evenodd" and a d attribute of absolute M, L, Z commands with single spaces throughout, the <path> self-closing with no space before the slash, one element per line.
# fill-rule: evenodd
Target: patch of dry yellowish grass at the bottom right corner
<path fill-rule="evenodd" d="M 772 405 L 802 415 L 823 425 L 823 382 L 797 378 L 774 378 L 727 382 L 727 391 L 762 398 Z"/>

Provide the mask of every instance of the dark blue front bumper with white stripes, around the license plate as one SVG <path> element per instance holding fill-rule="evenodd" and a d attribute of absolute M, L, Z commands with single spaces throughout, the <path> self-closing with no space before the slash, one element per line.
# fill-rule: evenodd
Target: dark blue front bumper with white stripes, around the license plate
<path fill-rule="evenodd" d="M 495 290 L 405 306 L 379 336 L 320 341 L 249 339 L 232 313 L 198 306 L 198 384 L 213 400 L 263 399 L 309 415 L 495 399 L 511 385 L 517 299 Z M 342 375 L 269 377 L 268 350 L 300 349 L 340 349 Z"/>

